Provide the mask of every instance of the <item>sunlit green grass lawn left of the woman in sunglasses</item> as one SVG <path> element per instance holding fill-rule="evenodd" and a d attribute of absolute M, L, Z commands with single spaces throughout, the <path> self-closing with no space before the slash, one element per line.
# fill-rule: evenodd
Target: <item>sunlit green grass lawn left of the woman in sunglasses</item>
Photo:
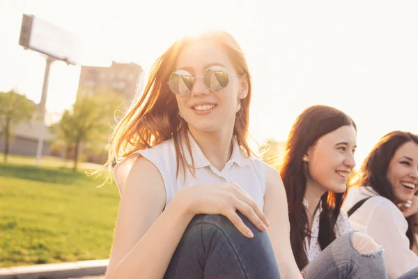
<path fill-rule="evenodd" d="M 119 194 L 84 172 L 0 163 L 0 267 L 109 257 Z"/>

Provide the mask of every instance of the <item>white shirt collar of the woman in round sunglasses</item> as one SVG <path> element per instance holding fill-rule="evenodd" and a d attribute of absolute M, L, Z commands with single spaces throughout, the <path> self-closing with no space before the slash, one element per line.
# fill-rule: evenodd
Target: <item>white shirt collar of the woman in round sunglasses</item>
<path fill-rule="evenodd" d="M 199 169 L 201 167 L 208 167 L 212 165 L 208 158 L 206 158 L 205 154 L 203 154 L 203 151 L 201 150 L 199 144 L 197 144 L 196 140 L 194 140 L 194 137 L 191 133 L 187 133 L 189 137 L 190 142 L 190 150 L 193 154 L 194 159 L 194 167 L 196 169 Z M 187 151 L 187 146 L 185 142 L 183 141 L 183 151 L 185 154 L 185 159 L 187 160 L 187 163 L 189 165 L 192 165 L 192 158 Z M 244 167 L 246 165 L 249 165 L 249 158 L 244 156 L 244 153 L 238 144 L 238 141 L 235 139 L 235 137 L 232 138 L 232 154 L 231 158 L 229 158 L 229 162 L 236 163 L 240 167 Z"/>

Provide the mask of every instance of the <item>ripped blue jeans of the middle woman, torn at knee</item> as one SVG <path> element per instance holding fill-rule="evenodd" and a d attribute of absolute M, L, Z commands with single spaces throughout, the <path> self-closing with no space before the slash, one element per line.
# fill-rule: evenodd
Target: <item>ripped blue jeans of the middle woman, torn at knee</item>
<path fill-rule="evenodd" d="M 386 279 L 382 249 L 372 255 L 353 247 L 353 232 L 335 239 L 304 268 L 305 279 Z"/>

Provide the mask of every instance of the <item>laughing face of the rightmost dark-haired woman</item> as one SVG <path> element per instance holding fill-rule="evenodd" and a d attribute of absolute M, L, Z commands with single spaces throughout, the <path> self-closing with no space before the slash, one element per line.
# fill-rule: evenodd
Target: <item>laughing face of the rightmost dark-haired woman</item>
<path fill-rule="evenodd" d="M 398 202 L 412 199 L 418 189 L 418 144 L 406 142 L 396 150 L 386 177 Z"/>

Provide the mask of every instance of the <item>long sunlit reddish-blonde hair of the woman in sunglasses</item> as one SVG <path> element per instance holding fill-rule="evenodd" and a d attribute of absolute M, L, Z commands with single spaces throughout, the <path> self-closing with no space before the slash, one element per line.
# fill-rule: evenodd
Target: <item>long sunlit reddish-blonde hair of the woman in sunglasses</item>
<path fill-rule="evenodd" d="M 202 40 L 219 45 L 229 57 L 236 73 L 247 79 L 248 95 L 241 100 L 242 111 L 238 112 L 240 117 L 235 119 L 233 136 L 247 153 L 247 156 L 251 154 L 247 142 L 251 75 L 249 74 L 245 54 L 231 34 L 225 31 L 212 31 L 177 40 L 155 61 L 150 69 L 144 93 L 123 116 L 111 136 L 109 156 L 107 163 L 104 165 L 107 167 L 107 182 L 112 180 L 111 171 L 116 163 L 121 162 L 134 151 L 149 149 L 170 138 L 173 138 L 176 147 L 177 175 L 180 164 L 194 173 L 193 158 L 192 165 L 187 164 L 185 151 L 181 148 L 184 141 L 187 151 L 191 153 L 189 138 L 187 137 L 187 123 L 178 116 L 176 96 L 169 89 L 167 82 L 171 73 L 176 70 L 176 61 L 180 52 L 185 47 Z"/>

